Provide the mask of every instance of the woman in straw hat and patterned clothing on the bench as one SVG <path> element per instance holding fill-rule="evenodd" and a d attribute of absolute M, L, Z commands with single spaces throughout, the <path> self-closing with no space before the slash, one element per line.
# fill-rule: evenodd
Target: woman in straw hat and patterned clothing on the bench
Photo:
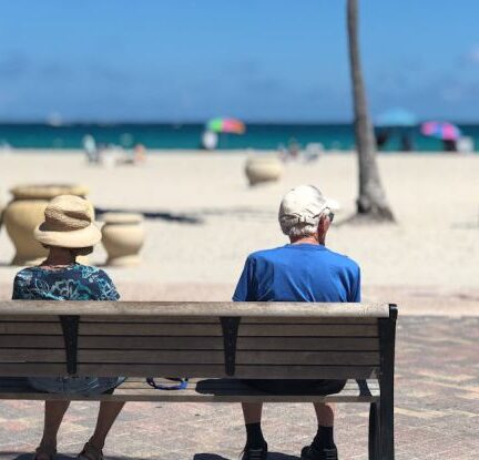
<path fill-rule="evenodd" d="M 44 222 L 34 237 L 49 249 L 47 259 L 37 267 L 19 272 L 13 283 L 13 299 L 49 300 L 118 300 L 119 294 L 110 277 L 101 269 L 80 265 L 78 256 L 88 255 L 101 239 L 93 223 L 90 203 L 62 195 L 45 209 Z M 30 378 L 38 390 L 65 393 L 112 392 L 121 378 L 75 377 Z M 57 453 L 57 435 L 70 401 L 45 401 L 43 437 L 34 460 L 52 460 Z M 123 402 L 101 402 L 93 436 L 79 454 L 83 460 L 102 460 L 105 438 Z"/>

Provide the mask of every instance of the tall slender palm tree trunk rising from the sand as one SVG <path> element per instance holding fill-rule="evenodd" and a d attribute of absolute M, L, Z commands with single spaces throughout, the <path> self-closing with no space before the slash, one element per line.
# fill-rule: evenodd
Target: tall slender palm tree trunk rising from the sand
<path fill-rule="evenodd" d="M 375 221 L 394 221 L 379 177 L 376 161 L 376 142 L 366 101 L 359 57 L 357 0 L 347 0 L 347 28 L 355 114 L 354 124 L 359 166 L 357 213 Z"/>

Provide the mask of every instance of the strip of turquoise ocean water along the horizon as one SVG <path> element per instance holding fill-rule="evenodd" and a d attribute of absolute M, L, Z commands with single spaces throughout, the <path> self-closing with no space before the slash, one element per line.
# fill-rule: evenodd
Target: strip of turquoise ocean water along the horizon
<path fill-rule="evenodd" d="M 475 140 L 479 150 L 479 124 L 459 124 L 462 134 Z M 147 149 L 198 149 L 203 124 L 61 124 L 0 123 L 0 145 L 19 149 L 81 149 L 82 137 L 91 134 L 101 144 L 131 147 L 136 143 Z M 418 129 L 407 129 L 415 150 L 441 151 L 440 141 L 422 136 Z M 383 150 L 398 150 L 405 129 L 395 129 Z M 244 135 L 222 134 L 220 149 L 275 150 L 295 140 L 300 145 L 320 142 L 325 149 L 350 150 L 354 133 L 350 124 L 247 124 Z"/>

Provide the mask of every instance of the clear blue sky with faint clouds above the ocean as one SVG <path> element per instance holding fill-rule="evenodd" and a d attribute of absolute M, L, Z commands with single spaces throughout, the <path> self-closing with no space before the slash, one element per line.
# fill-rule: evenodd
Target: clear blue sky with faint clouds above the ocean
<path fill-rule="evenodd" d="M 346 0 L 0 0 L 0 120 L 351 119 Z M 370 111 L 479 121 L 478 0 L 359 0 Z"/>

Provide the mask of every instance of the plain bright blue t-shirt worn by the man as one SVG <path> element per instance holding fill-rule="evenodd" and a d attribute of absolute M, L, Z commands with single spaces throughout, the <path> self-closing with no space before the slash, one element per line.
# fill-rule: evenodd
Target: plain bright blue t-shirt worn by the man
<path fill-rule="evenodd" d="M 235 301 L 360 301 L 360 270 L 315 244 L 258 251 L 246 259 Z"/>

